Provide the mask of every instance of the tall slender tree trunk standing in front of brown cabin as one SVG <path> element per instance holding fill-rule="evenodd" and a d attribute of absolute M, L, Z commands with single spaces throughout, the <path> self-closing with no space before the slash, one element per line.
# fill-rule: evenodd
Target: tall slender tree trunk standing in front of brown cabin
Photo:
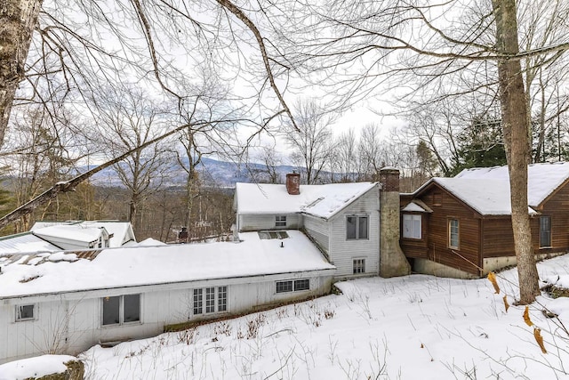
<path fill-rule="evenodd" d="M 516 0 L 493 0 L 496 17 L 496 47 L 500 53 L 519 53 Z M 527 204 L 527 166 L 530 143 L 524 79 L 519 60 L 498 62 L 501 117 L 509 167 L 512 228 L 519 277 L 519 303 L 533 303 L 540 294 L 533 257 L 532 231 Z"/>

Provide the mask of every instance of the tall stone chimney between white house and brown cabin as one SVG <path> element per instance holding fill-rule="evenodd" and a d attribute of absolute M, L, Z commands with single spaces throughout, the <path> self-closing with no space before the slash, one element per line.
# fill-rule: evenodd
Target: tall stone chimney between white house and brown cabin
<path fill-rule="evenodd" d="M 399 170 L 382 168 L 380 183 L 380 276 L 405 276 L 411 273 L 411 265 L 399 247 Z"/>

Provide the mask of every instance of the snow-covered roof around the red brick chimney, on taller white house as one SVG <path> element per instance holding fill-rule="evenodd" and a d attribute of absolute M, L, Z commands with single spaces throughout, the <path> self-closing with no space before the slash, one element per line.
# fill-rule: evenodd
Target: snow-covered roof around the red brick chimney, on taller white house
<path fill-rule="evenodd" d="M 301 185 L 299 195 L 290 195 L 285 185 L 236 183 L 238 214 L 310 214 L 329 219 L 377 183 L 330 183 Z"/>

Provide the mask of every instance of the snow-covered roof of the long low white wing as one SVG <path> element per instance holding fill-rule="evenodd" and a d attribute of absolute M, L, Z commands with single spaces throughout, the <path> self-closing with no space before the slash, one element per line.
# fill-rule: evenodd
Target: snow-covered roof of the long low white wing
<path fill-rule="evenodd" d="M 108 248 L 92 260 L 62 252 L 52 254 L 57 262 L 50 254 L 41 263 L 27 262 L 25 255 L 16 262 L 0 257 L 0 299 L 335 269 L 302 232 L 287 233 L 288 239 L 260 239 L 257 232 L 247 232 L 240 234 L 240 243 Z"/>

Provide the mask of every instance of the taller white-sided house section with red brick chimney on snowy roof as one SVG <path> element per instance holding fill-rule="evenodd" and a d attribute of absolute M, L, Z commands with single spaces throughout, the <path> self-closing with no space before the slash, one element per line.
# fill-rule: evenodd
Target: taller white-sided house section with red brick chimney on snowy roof
<path fill-rule="evenodd" d="M 236 230 L 303 230 L 327 256 L 336 279 L 376 276 L 380 268 L 380 184 L 237 183 Z"/>

